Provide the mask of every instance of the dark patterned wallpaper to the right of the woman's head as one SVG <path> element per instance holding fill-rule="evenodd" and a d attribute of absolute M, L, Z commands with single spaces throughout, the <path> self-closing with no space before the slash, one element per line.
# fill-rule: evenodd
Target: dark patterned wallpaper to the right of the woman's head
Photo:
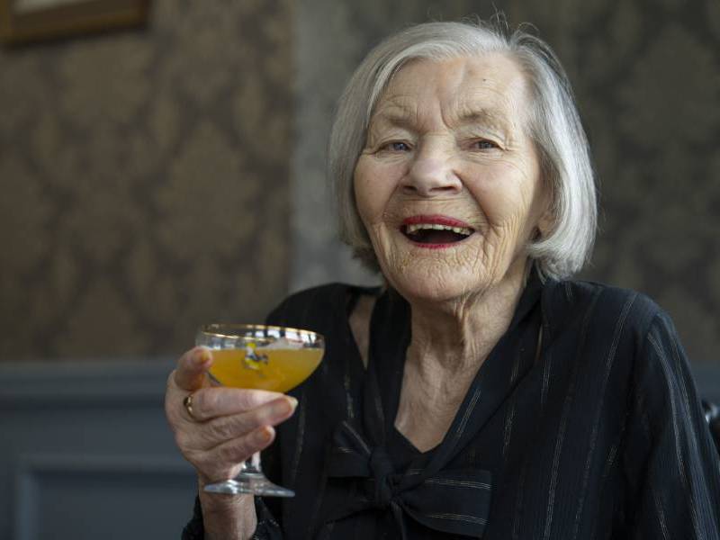
<path fill-rule="evenodd" d="M 602 216 L 590 279 L 671 313 L 720 365 L 720 2 L 518 3 L 563 58 L 590 135 Z"/>

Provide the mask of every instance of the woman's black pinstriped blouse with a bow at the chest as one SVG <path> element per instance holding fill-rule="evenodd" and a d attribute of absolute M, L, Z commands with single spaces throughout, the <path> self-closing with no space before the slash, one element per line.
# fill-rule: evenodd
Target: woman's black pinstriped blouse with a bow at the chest
<path fill-rule="evenodd" d="M 378 295 L 367 371 L 348 324 Z M 393 427 L 410 306 L 392 290 L 297 293 L 271 324 L 326 337 L 263 453 L 293 499 L 257 499 L 255 538 L 717 539 L 720 460 L 669 317 L 641 294 L 531 275 L 443 442 Z M 196 502 L 184 540 L 202 538 Z"/>

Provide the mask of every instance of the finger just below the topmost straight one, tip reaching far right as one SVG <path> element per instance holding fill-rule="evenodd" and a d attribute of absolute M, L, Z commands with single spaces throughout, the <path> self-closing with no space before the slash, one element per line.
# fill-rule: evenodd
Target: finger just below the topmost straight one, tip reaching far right
<path fill-rule="evenodd" d="M 205 448 L 221 446 L 228 440 L 244 437 L 263 426 L 276 426 L 293 416 L 296 406 L 297 401 L 284 396 L 254 410 L 212 419 L 198 432 L 204 439 L 201 445 Z"/>

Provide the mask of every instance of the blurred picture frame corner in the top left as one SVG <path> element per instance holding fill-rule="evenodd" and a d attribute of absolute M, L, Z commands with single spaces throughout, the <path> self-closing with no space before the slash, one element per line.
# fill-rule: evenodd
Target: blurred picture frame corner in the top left
<path fill-rule="evenodd" d="M 0 41 L 28 43 L 139 26 L 149 0 L 0 0 Z"/>

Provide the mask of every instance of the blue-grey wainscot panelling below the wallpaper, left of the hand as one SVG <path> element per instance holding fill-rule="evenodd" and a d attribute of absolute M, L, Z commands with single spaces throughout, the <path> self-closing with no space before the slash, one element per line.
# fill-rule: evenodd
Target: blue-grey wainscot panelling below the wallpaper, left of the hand
<path fill-rule="evenodd" d="M 172 367 L 0 365 L 0 538 L 179 538 L 196 484 L 163 411 Z"/>

